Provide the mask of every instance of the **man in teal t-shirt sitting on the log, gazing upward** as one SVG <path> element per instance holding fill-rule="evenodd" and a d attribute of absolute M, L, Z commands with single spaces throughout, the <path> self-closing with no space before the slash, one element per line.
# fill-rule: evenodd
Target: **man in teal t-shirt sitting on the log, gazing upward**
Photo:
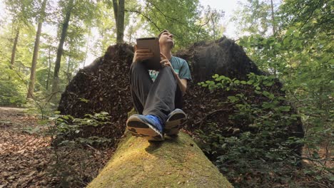
<path fill-rule="evenodd" d="M 133 104 L 140 115 L 131 115 L 127 129 L 147 140 L 164 140 L 164 133 L 177 135 L 186 122 L 182 108 L 187 82 L 191 80 L 188 63 L 175 56 L 173 34 L 163 30 L 159 36 L 160 71 L 147 70 L 142 61 L 153 57 L 148 49 L 136 49 L 130 68 Z"/>

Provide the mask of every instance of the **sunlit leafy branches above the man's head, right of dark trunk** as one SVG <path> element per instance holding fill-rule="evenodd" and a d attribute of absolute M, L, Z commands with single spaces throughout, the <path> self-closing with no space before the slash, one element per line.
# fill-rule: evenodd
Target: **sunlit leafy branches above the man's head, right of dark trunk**
<path fill-rule="evenodd" d="M 128 6 L 127 9 L 138 14 L 144 26 L 149 26 L 149 29 L 143 28 L 149 34 L 157 36 L 163 29 L 171 31 L 175 36 L 175 50 L 196 41 L 222 36 L 223 27 L 219 20 L 223 17 L 223 11 L 210 7 L 203 9 L 198 0 L 171 0 L 168 3 L 146 0 L 143 4 Z"/>

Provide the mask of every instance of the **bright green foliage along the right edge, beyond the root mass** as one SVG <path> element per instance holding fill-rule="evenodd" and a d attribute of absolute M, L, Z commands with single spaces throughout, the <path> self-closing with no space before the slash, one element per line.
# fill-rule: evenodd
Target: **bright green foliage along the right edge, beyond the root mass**
<path fill-rule="evenodd" d="M 286 1 L 280 6 L 282 28 L 277 36 L 247 36 L 239 44 L 260 68 L 283 82 L 288 100 L 302 117 L 307 151 L 318 160 L 319 145 L 333 147 L 333 40 L 325 24 L 329 2 L 305 3 Z M 300 14 L 295 15 L 297 7 Z M 310 14 L 308 21 L 305 14 Z M 327 168 L 325 162 L 319 164 Z"/>

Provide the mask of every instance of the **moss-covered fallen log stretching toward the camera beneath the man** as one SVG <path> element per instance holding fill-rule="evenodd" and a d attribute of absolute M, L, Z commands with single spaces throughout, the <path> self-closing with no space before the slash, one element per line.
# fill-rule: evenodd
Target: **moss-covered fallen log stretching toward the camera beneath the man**
<path fill-rule="evenodd" d="M 126 135 L 88 187 L 233 187 L 183 132 L 164 142 Z"/>

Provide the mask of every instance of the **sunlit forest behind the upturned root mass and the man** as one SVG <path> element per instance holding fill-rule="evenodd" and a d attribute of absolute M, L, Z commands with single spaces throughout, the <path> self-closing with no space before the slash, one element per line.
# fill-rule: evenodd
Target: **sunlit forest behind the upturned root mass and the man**
<path fill-rule="evenodd" d="M 232 24 L 236 43 L 261 70 L 283 83 L 286 97 L 298 109 L 305 130 L 298 142 L 305 143 L 310 161 L 317 164 L 305 174 L 334 180 L 333 168 L 326 165 L 333 160 L 333 1 L 244 0 L 231 18 L 196 0 L 122 2 L 2 1 L 0 105 L 54 117 L 66 85 L 90 63 L 89 56 L 102 56 L 108 46 L 133 44 L 168 28 L 178 51 L 221 38 Z M 321 148 L 325 160 L 318 154 Z"/>

